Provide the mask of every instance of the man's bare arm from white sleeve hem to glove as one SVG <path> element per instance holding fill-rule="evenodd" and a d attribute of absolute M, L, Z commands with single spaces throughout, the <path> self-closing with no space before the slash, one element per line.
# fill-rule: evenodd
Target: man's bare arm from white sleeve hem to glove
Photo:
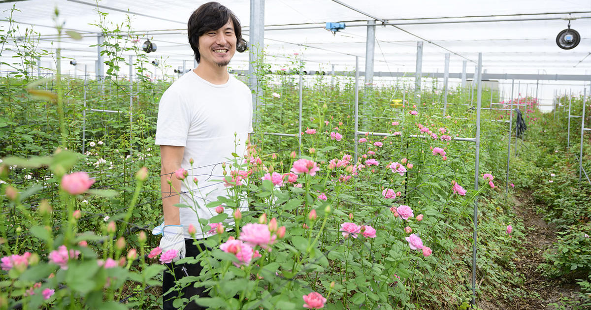
<path fill-rule="evenodd" d="M 183 161 L 184 146 L 160 146 L 161 171 L 160 184 L 162 190 L 162 208 L 164 211 L 164 225 L 180 225 L 178 207 L 175 204 L 180 202 L 181 181 L 174 177 L 174 172 L 181 168 Z M 172 186 L 168 184 L 168 178 Z"/>

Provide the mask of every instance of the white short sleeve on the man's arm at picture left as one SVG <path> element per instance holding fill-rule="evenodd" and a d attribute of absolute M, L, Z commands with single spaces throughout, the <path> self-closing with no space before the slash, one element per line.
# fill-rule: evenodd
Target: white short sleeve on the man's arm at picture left
<path fill-rule="evenodd" d="M 175 89 L 167 89 L 158 105 L 155 144 L 187 146 L 189 119 L 183 96 Z"/>

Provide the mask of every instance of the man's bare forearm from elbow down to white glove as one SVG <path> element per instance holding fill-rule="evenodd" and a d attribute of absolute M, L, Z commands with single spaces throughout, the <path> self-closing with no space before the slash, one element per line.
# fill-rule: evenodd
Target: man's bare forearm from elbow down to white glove
<path fill-rule="evenodd" d="M 174 177 L 175 167 L 162 167 L 161 188 L 162 188 L 162 208 L 164 211 L 165 225 L 180 225 L 178 207 L 175 204 L 180 202 L 181 181 Z M 180 167 L 179 167 L 180 168 Z M 178 168 L 177 168 L 178 169 Z M 168 180 L 171 184 L 168 184 Z"/>

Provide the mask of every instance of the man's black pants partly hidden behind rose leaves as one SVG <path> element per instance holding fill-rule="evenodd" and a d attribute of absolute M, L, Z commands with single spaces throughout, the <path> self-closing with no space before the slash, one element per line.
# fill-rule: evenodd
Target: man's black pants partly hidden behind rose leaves
<path fill-rule="evenodd" d="M 200 244 L 200 247 L 202 250 L 204 250 L 204 246 L 203 244 Z M 197 246 L 195 244 L 193 244 L 193 239 L 185 239 L 185 249 L 186 249 L 186 256 L 187 257 L 191 257 L 191 256 L 197 256 L 199 255 L 199 253 L 201 253 L 201 251 L 199 250 L 199 248 L 197 248 Z M 197 264 L 181 264 L 181 265 L 176 265 L 174 263 L 170 263 L 170 264 L 166 264 L 167 265 L 167 270 L 164 270 L 164 276 L 162 278 L 162 292 L 168 292 L 168 290 L 170 288 L 174 287 L 174 282 L 175 282 L 175 277 L 176 279 L 180 279 L 183 278 L 183 276 L 185 276 L 185 272 L 183 270 L 183 266 L 186 268 L 187 270 L 187 274 L 190 276 L 199 276 L 201 271 L 203 270 L 203 267 L 201 266 L 201 264 L 197 263 Z M 174 276 L 172 275 L 172 273 L 170 273 L 170 270 L 173 269 L 174 266 Z M 191 296 L 194 295 L 199 295 L 200 297 L 207 297 L 209 296 L 205 291 L 206 288 L 200 287 L 200 288 L 194 288 L 193 285 L 189 285 L 186 288 L 184 288 L 181 292 L 178 291 L 173 291 L 168 293 L 167 295 L 164 295 L 162 300 L 163 300 L 163 308 L 164 310 L 177 310 L 177 308 L 174 308 L 173 306 L 173 302 L 174 299 L 176 299 L 177 297 L 180 298 L 187 298 L 190 299 Z M 199 306 L 197 304 L 195 304 L 195 302 L 191 301 L 189 302 L 189 304 L 187 304 L 184 308 L 184 310 L 201 310 L 201 309 L 206 309 L 202 306 Z"/>

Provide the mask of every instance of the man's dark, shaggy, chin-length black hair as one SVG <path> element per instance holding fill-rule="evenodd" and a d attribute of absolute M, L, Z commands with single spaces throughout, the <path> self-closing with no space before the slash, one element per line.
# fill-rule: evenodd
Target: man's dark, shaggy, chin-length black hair
<path fill-rule="evenodd" d="M 187 32 L 189 36 L 189 44 L 195 53 L 195 60 L 197 63 L 201 60 L 199 53 L 199 37 L 207 31 L 218 30 L 222 28 L 229 20 L 232 20 L 234 25 L 234 34 L 236 34 L 236 46 L 242 40 L 242 27 L 240 21 L 230 9 L 226 8 L 217 2 L 207 2 L 197 8 L 187 22 Z M 239 50 L 239 49 L 238 49 Z"/>

